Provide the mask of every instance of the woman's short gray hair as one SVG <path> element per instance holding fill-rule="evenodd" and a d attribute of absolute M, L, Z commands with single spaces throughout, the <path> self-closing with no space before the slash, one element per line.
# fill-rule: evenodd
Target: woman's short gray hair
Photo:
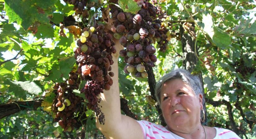
<path fill-rule="evenodd" d="M 155 97 L 157 102 L 161 106 L 160 94 L 162 87 L 165 82 L 171 81 L 173 79 L 181 79 L 183 82 L 186 82 L 193 90 L 196 96 L 202 94 L 204 96 L 203 88 L 200 82 L 200 79 L 197 76 L 190 74 L 187 70 L 175 69 L 168 74 L 165 74 L 162 78 L 159 79 L 155 86 Z M 204 98 L 203 98 L 204 103 Z"/>

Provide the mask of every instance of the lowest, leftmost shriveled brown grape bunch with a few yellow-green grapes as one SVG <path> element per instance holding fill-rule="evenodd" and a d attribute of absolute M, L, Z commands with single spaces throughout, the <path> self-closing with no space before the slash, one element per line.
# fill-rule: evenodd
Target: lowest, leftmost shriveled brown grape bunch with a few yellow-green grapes
<path fill-rule="evenodd" d="M 75 115 L 81 113 L 82 98 L 76 96 L 72 91 L 78 89 L 80 79 L 78 73 L 71 71 L 67 82 L 56 83 L 54 86 L 56 98 L 52 105 L 55 113 L 55 121 L 59 123 L 64 131 L 70 132 L 77 123 Z"/>

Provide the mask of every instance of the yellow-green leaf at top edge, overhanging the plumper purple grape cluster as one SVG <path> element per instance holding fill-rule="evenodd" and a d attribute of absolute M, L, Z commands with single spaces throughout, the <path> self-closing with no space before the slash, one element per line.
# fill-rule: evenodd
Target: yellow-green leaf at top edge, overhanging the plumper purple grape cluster
<path fill-rule="evenodd" d="M 141 7 L 138 6 L 137 2 L 133 0 L 119 0 L 118 5 L 122 8 L 124 12 L 137 14 L 141 10 Z"/>

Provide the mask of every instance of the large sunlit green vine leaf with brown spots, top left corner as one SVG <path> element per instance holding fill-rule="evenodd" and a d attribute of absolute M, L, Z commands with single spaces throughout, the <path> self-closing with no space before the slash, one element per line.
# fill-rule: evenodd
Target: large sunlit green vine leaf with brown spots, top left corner
<path fill-rule="evenodd" d="M 37 0 L 5 0 L 6 15 L 9 23 L 17 21 L 25 30 L 35 22 L 49 23 L 48 15 L 52 12 L 51 7 L 54 6 L 56 0 L 45 0 L 38 2 Z M 22 7 L 22 8 L 21 8 Z"/>

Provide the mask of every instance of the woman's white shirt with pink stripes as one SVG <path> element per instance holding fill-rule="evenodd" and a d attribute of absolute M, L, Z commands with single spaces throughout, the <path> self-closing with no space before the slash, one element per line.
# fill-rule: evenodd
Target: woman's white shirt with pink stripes
<path fill-rule="evenodd" d="M 144 134 L 144 139 L 184 139 L 159 124 L 150 123 L 149 121 L 137 121 Z M 241 139 L 231 130 L 216 128 L 216 136 L 213 139 Z"/>

